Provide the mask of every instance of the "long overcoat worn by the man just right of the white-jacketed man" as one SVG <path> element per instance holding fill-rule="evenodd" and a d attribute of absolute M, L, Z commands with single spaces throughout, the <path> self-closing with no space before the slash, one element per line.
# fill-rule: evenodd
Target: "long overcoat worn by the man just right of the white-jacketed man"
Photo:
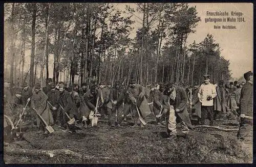
<path fill-rule="evenodd" d="M 220 87 L 216 87 L 217 96 L 214 98 L 214 110 L 218 110 L 220 112 L 226 113 L 226 91 L 224 87 L 222 88 L 222 92 L 220 91 Z M 222 96 L 221 96 L 222 94 Z"/>

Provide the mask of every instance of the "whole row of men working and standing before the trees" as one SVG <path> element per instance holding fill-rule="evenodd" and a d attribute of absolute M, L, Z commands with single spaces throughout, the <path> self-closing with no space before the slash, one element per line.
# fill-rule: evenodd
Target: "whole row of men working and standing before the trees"
<path fill-rule="evenodd" d="M 90 88 L 86 83 L 83 83 L 81 88 L 76 84 L 67 87 L 63 82 L 54 84 L 52 79 L 48 78 L 47 86 L 43 89 L 37 83 L 32 91 L 24 83 L 21 92 L 18 90 L 15 94 L 19 102 L 14 103 L 25 106 L 30 101 L 28 99 L 31 99 L 31 104 L 28 105 L 30 109 L 23 109 L 40 115 L 45 121 L 36 116 L 40 133 L 47 133 L 45 124 L 75 132 L 74 126 L 67 124 L 70 119 L 87 128 L 91 125 L 96 111 L 96 116 L 108 119 L 112 127 L 121 126 L 127 115 L 132 117 L 132 128 L 144 127 L 145 118 L 154 113 L 157 124 L 166 125 L 171 140 L 175 140 L 177 135 L 185 136 L 193 129 L 188 105 L 195 109 L 199 124 L 204 124 L 205 118 L 208 117 L 209 125 L 213 125 L 220 112 L 233 110 L 241 117 L 238 138 L 244 139 L 252 126 L 252 76 L 250 71 L 244 74 L 246 82 L 241 88 L 237 82 L 230 83 L 229 87 L 223 86 L 223 80 L 220 80 L 218 85 L 211 84 L 210 75 L 204 75 L 203 84 L 193 90 L 189 89 L 190 95 L 185 88 L 175 84 L 161 83 L 143 87 L 136 84 L 133 78 L 127 86 L 116 81 L 113 87 L 109 83 L 100 83 Z M 9 96 L 6 92 L 8 88 L 5 89 L 5 96 Z"/>

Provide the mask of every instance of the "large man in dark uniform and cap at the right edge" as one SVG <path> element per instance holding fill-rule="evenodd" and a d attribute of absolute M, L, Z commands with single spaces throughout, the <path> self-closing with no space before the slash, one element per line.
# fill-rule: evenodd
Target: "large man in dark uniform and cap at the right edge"
<path fill-rule="evenodd" d="M 253 106 L 253 73 L 248 71 L 244 74 L 245 85 L 241 89 L 240 96 L 240 127 L 237 138 L 245 140 L 252 129 L 252 106 Z"/>

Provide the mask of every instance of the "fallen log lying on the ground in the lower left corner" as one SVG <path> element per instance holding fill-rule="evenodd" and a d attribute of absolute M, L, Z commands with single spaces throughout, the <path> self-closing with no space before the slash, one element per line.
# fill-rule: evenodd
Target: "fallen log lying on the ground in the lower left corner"
<path fill-rule="evenodd" d="M 57 155 L 67 155 L 78 158 L 79 160 L 82 159 L 82 154 L 73 152 L 67 149 L 56 149 L 56 150 L 30 150 L 30 149 L 20 149 L 13 146 L 6 146 L 4 147 L 4 151 L 7 154 L 18 154 L 18 155 L 28 155 L 28 156 L 50 156 L 51 158 Z"/>

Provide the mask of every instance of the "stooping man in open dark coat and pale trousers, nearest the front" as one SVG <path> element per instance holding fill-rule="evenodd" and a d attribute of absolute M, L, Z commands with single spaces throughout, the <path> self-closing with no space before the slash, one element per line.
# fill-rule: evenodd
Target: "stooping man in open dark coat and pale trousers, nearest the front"
<path fill-rule="evenodd" d="M 170 139 L 174 140 L 176 135 L 185 136 L 193 127 L 186 108 L 188 99 L 185 89 L 169 84 L 166 92 L 170 104 L 166 128 Z"/>

